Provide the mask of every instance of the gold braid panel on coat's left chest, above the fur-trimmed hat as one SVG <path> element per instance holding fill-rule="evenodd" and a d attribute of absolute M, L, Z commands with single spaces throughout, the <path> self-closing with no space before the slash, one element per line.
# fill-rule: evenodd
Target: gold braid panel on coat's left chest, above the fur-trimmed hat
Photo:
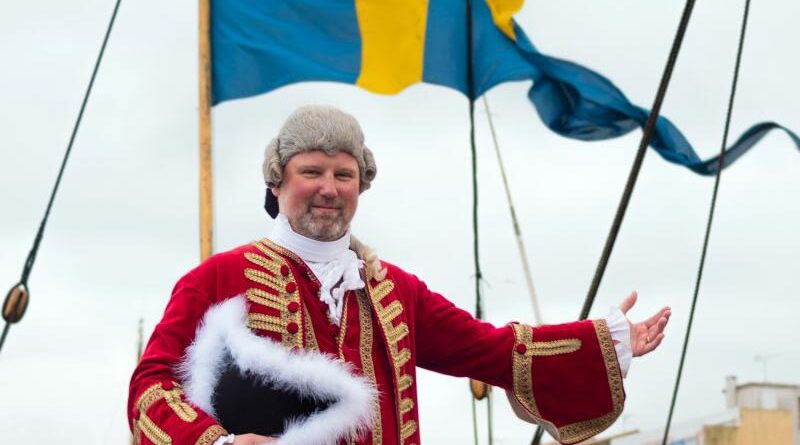
<path fill-rule="evenodd" d="M 257 268 L 245 268 L 244 275 L 248 280 L 265 286 L 272 292 L 252 287 L 246 292 L 247 299 L 257 305 L 277 310 L 280 315 L 276 317 L 251 313 L 248 315 L 247 326 L 280 334 L 281 344 L 284 347 L 302 348 L 306 332 L 306 329 L 300 329 L 303 321 L 302 313 L 300 311 L 291 312 L 288 308 L 290 303 L 301 304 L 300 294 L 292 269 L 284 256 L 292 259 L 296 259 L 296 257 L 266 239 L 253 243 L 253 246 L 263 255 L 245 252 L 244 257 Z M 286 270 L 286 268 L 288 268 L 288 274 L 284 276 L 281 269 Z M 295 283 L 295 289 L 293 292 L 288 292 L 286 286 L 292 282 Z M 298 327 L 297 332 L 291 333 L 287 330 L 290 323 L 294 323 Z"/>

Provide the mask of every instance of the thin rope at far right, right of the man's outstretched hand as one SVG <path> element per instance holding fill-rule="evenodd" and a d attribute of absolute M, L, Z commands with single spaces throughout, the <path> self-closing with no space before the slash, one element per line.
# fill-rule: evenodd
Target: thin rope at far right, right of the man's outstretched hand
<path fill-rule="evenodd" d="M 683 376 L 683 365 L 686 362 L 686 351 L 689 348 L 689 336 L 692 332 L 692 324 L 694 322 L 694 311 L 697 307 L 697 296 L 700 293 L 700 282 L 703 279 L 703 269 L 706 264 L 706 253 L 708 252 L 708 239 L 711 236 L 711 225 L 714 221 L 714 210 L 717 206 L 717 193 L 719 192 L 719 182 L 722 177 L 722 167 L 725 163 L 725 147 L 728 145 L 728 131 L 731 126 L 731 116 L 733 115 L 733 104 L 736 98 L 736 86 L 739 82 L 739 69 L 742 63 L 742 49 L 744 48 L 744 37 L 747 31 L 747 19 L 750 15 L 750 0 L 745 0 L 744 13 L 742 15 L 742 28 L 739 32 L 739 47 L 736 51 L 736 64 L 733 69 L 733 80 L 731 81 L 731 92 L 728 98 L 728 111 L 725 116 L 725 130 L 722 133 L 722 147 L 720 148 L 719 159 L 717 160 L 717 174 L 714 178 L 714 190 L 711 193 L 711 205 L 708 209 L 708 221 L 706 222 L 706 232 L 703 238 L 703 249 L 700 253 L 700 265 L 697 268 L 697 280 L 694 285 L 694 295 L 692 296 L 692 306 L 689 310 L 689 322 L 686 325 L 686 335 L 683 339 L 683 349 L 681 350 L 681 360 L 678 364 L 678 374 L 675 378 L 675 388 L 672 391 L 672 401 L 669 406 L 669 414 L 667 415 L 667 425 L 664 428 L 664 437 L 661 440 L 662 445 L 666 445 L 669 437 L 669 429 L 672 425 L 672 415 L 675 412 L 675 402 L 678 398 L 678 389 L 680 388 L 681 377 Z"/>

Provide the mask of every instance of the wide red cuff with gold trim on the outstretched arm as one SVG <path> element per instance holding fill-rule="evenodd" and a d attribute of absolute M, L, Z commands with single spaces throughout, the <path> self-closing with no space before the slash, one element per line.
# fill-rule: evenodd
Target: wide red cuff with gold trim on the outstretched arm
<path fill-rule="evenodd" d="M 572 444 L 605 430 L 622 413 L 625 391 L 605 321 L 532 328 L 513 324 L 514 411 Z"/>

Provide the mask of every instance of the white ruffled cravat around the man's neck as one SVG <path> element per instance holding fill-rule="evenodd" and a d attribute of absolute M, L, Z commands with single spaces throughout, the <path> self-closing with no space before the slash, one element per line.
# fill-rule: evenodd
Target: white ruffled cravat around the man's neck
<path fill-rule="evenodd" d="M 350 231 L 335 241 L 317 241 L 292 230 L 281 213 L 275 218 L 269 239 L 294 252 L 311 268 L 320 282 L 319 299 L 328 305 L 328 317 L 338 325 L 345 292 L 364 287 L 358 271 L 363 262 L 350 250 Z"/>

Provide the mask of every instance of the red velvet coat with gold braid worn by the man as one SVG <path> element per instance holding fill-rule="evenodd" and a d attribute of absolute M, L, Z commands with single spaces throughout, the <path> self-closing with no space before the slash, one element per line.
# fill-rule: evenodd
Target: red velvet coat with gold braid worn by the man
<path fill-rule="evenodd" d="M 414 275 L 384 263 L 345 295 L 341 326 L 317 297 L 319 283 L 291 252 L 268 240 L 220 253 L 175 286 L 130 384 L 136 443 L 213 443 L 226 434 L 188 403 L 175 366 L 212 306 L 247 298 L 247 325 L 284 347 L 338 356 L 380 392 L 373 428 L 357 444 L 419 444 L 416 367 L 471 377 L 508 391 L 516 413 L 562 443 L 610 426 L 625 394 L 603 320 L 531 328 L 475 320 Z"/>

